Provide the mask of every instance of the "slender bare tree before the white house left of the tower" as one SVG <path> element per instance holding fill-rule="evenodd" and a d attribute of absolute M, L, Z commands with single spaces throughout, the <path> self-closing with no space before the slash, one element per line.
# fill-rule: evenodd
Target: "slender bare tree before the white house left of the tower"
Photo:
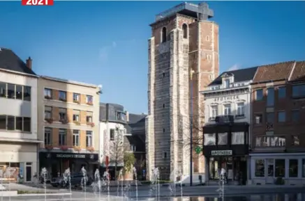
<path fill-rule="evenodd" d="M 114 162 L 114 177 L 117 179 L 117 167 L 124 163 L 124 127 L 117 124 L 114 128 L 114 136 L 110 136 L 109 153 L 110 161 Z"/>

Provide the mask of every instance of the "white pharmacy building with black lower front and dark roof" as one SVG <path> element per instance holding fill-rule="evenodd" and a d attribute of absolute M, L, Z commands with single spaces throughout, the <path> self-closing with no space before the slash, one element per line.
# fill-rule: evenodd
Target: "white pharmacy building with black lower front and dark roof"
<path fill-rule="evenodd" d="M 249 178 L 251 146 L 251 81 L 257 67 L 223 72 L 212 81 L 204 95 L 203 128 L 205 181 L 218 180 L 219 168 L 225 168 L 229 181 L 237 181 L 242 172 Z"/>

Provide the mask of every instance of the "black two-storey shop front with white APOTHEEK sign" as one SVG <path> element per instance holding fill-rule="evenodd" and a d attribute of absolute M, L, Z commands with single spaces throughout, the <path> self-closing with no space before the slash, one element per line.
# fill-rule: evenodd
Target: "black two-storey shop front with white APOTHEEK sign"
<path fill-rule="evenodd" d="M 223 168 L 229 184 L 246 184 L 248 175 L 248 124 L 204 126 L 203 154 L 206 182 L 218 181 Z"/>

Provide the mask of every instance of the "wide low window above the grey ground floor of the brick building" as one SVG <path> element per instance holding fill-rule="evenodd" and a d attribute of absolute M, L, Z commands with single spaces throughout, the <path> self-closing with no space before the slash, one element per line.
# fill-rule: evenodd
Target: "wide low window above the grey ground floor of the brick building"
<path fill-rule="evenodd" d="M 255 147 L 285 147 L 286 139 L 283 136 L 257 136 Z"/>

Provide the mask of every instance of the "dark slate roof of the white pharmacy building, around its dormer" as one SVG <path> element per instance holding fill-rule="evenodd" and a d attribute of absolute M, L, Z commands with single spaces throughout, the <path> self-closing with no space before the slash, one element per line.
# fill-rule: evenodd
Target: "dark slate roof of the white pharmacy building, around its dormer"
<path fill-rule="evenodd" d="M 234 82 L 241 82 L 241 81 L 249 81 L 252 80 L 255 76 L 255 72 L 258 69 L 258 67 L 249 67 L 239 70 L 231 70 L 221 73 L 214 81 L 212 81 L 209 86 L 214 85 L 221 85 L 222 83 L 222 76 L 224 74 L 233 74 L 234 75 Z"/>

